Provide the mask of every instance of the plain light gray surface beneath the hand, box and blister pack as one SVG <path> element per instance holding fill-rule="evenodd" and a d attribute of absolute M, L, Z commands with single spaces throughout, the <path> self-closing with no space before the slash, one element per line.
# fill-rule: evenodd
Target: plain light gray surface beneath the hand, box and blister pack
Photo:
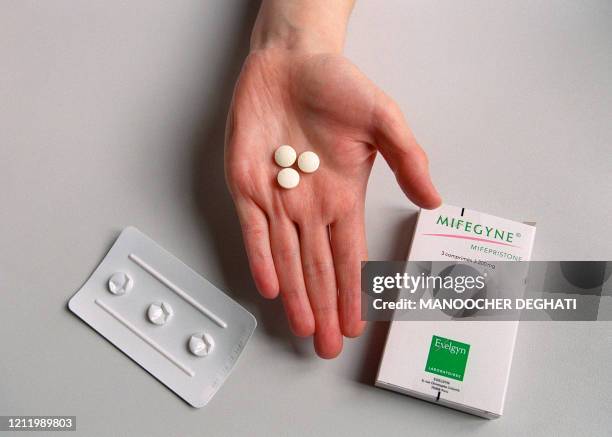
<path fill-rule="evenodd" d="M 374 388 L 384 325 L 333 361 L 288 334 L 221 169 L 256 3 L 0 7 L 0 414 L 76 415 L 88 436 L 610 435 L 611 324 L 522 324 L 492 422 Z M 364 0 L 346 54 L 398 100 L 448 203 L 536 221 L 535 259 L 612 258 L 612 3 Z M 406 255 L 415 211 L 378 159 L 371 259 Z M 204 409 L 66 310 L 129 224 L 260 323 Z"/>

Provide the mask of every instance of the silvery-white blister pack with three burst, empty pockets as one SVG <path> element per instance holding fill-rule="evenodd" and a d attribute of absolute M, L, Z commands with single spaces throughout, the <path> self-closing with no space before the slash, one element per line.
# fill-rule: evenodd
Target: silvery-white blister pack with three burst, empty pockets
<path fill-rule="evenodd" d="M 133 227 L 123 230 L 68 307 L 197 408 L 223 384 L 257 324 Z"/>

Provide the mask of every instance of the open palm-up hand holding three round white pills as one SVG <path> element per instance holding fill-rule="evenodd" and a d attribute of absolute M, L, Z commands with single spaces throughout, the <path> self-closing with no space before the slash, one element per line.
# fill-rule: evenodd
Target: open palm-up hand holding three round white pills
<path fill-rule="evenodd" d="M 281 144 L 321 159 L 291 190 L 276 182 Z M 377 151 L 414 203 L 440 204 L 398 106 L 350 61 L 278 47 L 249 55 L 228 116 L 227 182 L 257 288 L 270 299 L 280 293 L 291 330 L 314 334 L 323 358 L 364 328 L 364 201 Z"/>

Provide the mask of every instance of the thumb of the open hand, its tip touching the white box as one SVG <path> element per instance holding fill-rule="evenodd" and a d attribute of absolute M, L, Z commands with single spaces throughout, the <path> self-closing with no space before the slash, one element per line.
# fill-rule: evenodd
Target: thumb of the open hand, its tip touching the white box
<path fill-rule="evenodd" d="M 440 206 L 442 199 L 431 182 L 425 151 L 397 104 L 382 92 L 375 108 L 374 139 L 406 196 L 422 208 Z"/>

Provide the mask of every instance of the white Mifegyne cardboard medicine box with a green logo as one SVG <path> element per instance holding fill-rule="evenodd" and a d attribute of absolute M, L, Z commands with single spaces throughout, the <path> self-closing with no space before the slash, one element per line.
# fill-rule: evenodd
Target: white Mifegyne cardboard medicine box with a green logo
<path fill-rule="evenodd" d="M 444 205 L 421 210 L 408 259 L 528 261 L 534 238 L 534 226 Z M 497 418 L 504 409 L 518 323 L 394 321 L 376 385 Z"/>

